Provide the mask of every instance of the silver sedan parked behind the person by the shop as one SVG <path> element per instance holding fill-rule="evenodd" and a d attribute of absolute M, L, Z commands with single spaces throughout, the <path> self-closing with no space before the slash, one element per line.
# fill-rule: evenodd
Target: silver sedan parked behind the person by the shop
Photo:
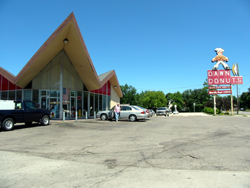
<path fill-rule="evenodd" d="M 147 118 L 147 112 L 140 108 L 136 108 L 131 105 L 120 105 L 121 112 L 119 119 L 128 119 L 130 121 L 136 121 Z M 113 120 L 115 119 L 114 107 L 110 110 L 99 111 L 96 114 L 96 118 L 101 120 Z"/>

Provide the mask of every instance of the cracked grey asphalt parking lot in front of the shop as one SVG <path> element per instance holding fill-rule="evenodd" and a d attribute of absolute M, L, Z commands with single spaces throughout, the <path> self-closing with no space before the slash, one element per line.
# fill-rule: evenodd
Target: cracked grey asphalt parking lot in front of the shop
<path fill-rule="evenodd" d="M 52 121 L 0 132 L 0 187 L 250 187 L 250 118 Z"/>

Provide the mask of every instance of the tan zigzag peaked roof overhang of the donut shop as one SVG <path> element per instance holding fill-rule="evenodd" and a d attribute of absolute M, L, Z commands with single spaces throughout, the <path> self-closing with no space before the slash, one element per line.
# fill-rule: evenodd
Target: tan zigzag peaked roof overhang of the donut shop
<path fill-rule="evenodd" d="M 69 41 L 67 44 L 63 42 L 66 38 Z M 112 85 L 118 87 L 117 94 L 122 97 L 115 71 L 111 71 L 105 79 L 100 81 L 73 12 L 46 40 L 16 77 L 2 68 L 0 73 L 17 86 L 24 88 L 61 50 L 66 52 L 89 91 L 101 88 L 110 80 Z"/>

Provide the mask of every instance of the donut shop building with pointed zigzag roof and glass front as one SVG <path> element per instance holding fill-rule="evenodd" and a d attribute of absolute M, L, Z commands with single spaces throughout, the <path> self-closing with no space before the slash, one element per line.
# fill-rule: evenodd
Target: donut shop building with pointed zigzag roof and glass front
<path fill-rule="evenodd" d="M 52 118 L 90 118 L 120 102 L 114 70 L 97 75 L 74 13 L 52 33 L 17 76 L 0 67 L 0 100 L 31 100 Z M 77 113 L 76 113 L 77 112 Z M 87 116 L 87 117 L 86 117 Z"/>

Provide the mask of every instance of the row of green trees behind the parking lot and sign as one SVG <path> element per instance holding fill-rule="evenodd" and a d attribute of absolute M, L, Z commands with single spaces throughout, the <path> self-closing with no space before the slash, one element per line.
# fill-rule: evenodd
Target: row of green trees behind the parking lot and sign
<path fill-rule="evenodd" d="M 179 91 L 175 93 L 164 94 L 162 91 L 142 91 L 138 93 L 136 88 L 125 84 L 121 85 L 123 98 L 121 104 L 131 104 L 142 106 L 147 109 L 156 109 L 158 107 L 168 106 L 170 99 L 174 100 L 174 105 L 177 105 L 178 111 L 185 112 L 203 112 L 205 107 L 214 106 L 214 99 L 212 95 L 208 94 L 207 82 L 204 82 L 203 88 L 200 89 L 187 89 L 183 93 Z M 233 96 L 234 108 L 237 107 L 237 98 Z M 243 92 L 239 98 L 241 108 L 250 108 L 250 88 L 247 92 Z M 231 109 L 231 95 L 221 97 L 216 96 L 216 107 L 219 110 Z M 174 109 L 172 109 L 174 110 Z"/>

